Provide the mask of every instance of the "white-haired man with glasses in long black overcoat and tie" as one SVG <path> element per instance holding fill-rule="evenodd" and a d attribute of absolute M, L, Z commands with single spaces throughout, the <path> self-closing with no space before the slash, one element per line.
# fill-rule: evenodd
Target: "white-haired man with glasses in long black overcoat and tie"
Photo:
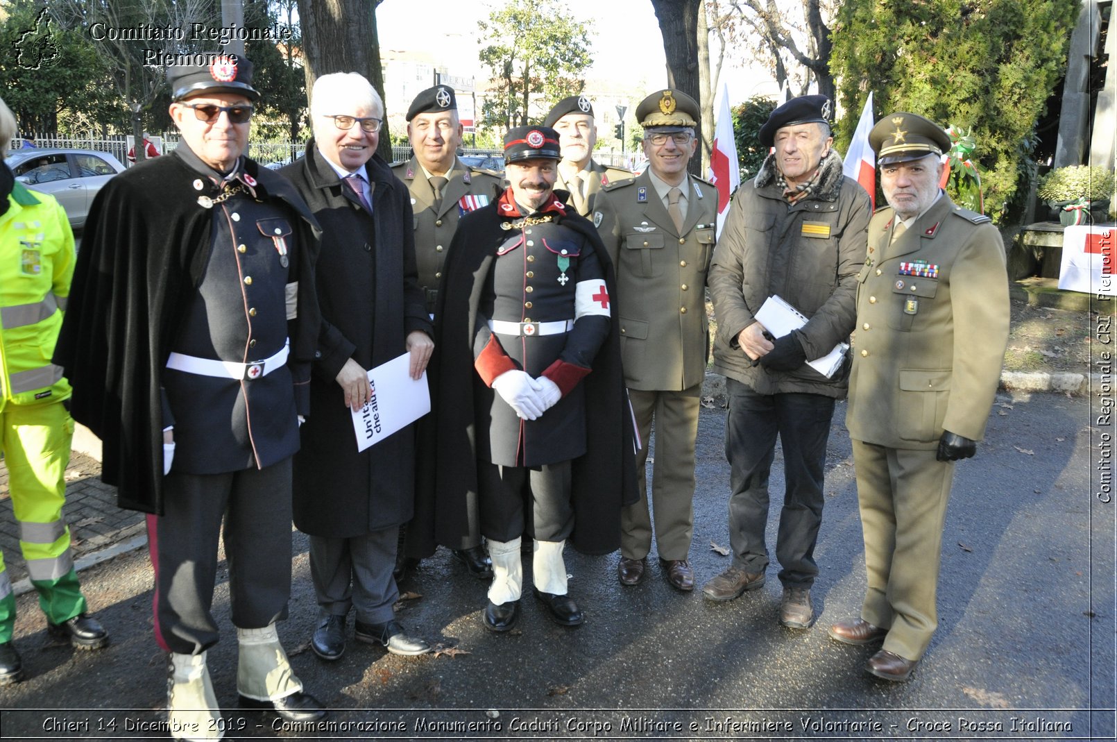
<path fill-rule="evenodd" d="M 359 451 L 350 410 L 372 397 L 369 369 L 410 352 L 412 378 L 430 359 L 433 329 L 416 283 L 408 191 L 375 155 L 384 105 L 356 73 L 323 75 L 311 96 L 314 139 L 283 169 L 322 225 L 316 267 L 323 330 L 311 377 L 314 416 L 295 456 L 295 525 L 311 534 L 318 622 L 311 649 L 345 651 L 345 617 L 360 641 L 398 655 L 430 650 L 395 620 L 392 569 L 414 498 L 414 432 Z"/>

